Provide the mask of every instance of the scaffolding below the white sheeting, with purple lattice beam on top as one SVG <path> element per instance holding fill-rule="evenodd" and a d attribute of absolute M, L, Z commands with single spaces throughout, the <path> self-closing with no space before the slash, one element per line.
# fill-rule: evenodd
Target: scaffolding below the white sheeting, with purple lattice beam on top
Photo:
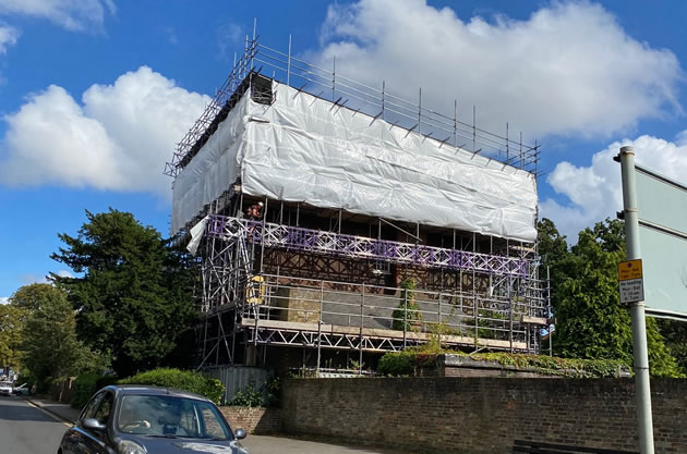
<path fill-rule="evenodd" d="M 357 352 L 362 360 L 363 352 L 395 352 L 432 339 L 463 349 L 543 349 L 539 331 L 546 324 L 549 289 L 537 277 L 533 254 L 519 244 L 511 247 L 517 256 L 502 256 L 226 216 L 209 217 L 205 242 L 205 360 L 214 354 L 236 361 L 238 343 L 244 357 L 245 346 L 252 355 L 269 345 L 311 348 L 316 368 L 323 349 Z M 276 254 L 310 261 L 285 267 Z M 365 263 L 355 271 L 361 279 L 373 277 L 381 261 L 454 279 L 444 279 L 444 289 L 412 291 L 411 308 L 398 287 L 310 277 L 314 262 L 341 265 L 343 258 Z M 285 269 L 288 274 L 274 273 Z M 207 332 L 212 318 L 214 334 Z"/>

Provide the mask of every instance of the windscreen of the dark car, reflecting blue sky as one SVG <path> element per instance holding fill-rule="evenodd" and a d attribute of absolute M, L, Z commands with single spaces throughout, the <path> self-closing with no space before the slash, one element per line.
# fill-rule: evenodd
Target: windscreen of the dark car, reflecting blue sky
<path fill-rule="evenodd" d="M 117 428 L 124 433 L 150 437 L 232 438 L 214 404 L 171 395 L 122 396 Z"/>

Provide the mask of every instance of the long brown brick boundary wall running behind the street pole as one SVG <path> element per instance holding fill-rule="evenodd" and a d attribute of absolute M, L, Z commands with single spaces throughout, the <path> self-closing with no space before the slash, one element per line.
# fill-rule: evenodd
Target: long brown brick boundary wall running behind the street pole
<path fill-rule="evenodd" d="M 655 452 L 687 453 L 687 380 L 651 388 Z M 505 454 L 515 439 L 638 451 L 632 379 L 290 379 L 282 401 L 287 433 L 413 452 Z"/>

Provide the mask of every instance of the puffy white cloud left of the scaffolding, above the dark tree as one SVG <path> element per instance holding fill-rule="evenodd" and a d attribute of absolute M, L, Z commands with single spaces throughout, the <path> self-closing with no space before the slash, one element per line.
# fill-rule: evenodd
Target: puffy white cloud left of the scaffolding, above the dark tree
<path fill-rule="evenodd" d="M 0 176 L 9 186 L 148 191 L 168 198 L 165 162 L 209 100 L 147 66 L 113 85 L 91 86 L 82 103 L 51 85 L 4 118 Z"/>

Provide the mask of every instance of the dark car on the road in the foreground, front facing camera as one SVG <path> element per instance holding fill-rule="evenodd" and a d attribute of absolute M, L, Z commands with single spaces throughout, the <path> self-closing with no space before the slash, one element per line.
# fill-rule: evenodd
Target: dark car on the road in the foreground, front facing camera
<path fill-rule="evenodd" d="M 106 386 L 81 412 L 58 454 L 248 454 L 219 408 L 184 391 Z"/>

